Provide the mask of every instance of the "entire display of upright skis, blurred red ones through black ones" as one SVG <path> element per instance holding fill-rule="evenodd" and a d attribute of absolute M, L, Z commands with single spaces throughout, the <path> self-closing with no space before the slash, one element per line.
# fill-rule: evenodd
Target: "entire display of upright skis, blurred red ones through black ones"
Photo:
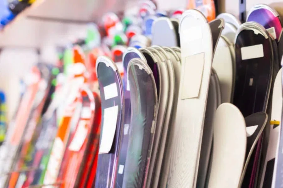
<path fill-rule="evenodd" d="M 24 77 L 0 187 L 279 188 L 278 13 L 259 4 L 241 24 L 195 9 L 169 18 L 149 1 L 139 10 L 108 13 L 105 37 L 92 25 L 63 66 Z"/>

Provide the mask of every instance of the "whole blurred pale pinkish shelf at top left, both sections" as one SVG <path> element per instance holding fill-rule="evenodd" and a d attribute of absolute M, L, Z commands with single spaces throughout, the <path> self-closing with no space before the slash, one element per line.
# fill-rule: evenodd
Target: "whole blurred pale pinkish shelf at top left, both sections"
<path fill-rule="evenodd" d="M 137 0 L 38 0 L 0 32 L 0 47 L 41 48 L 78 38 L 86 23 L 108 11 L 121 11 Z"/>

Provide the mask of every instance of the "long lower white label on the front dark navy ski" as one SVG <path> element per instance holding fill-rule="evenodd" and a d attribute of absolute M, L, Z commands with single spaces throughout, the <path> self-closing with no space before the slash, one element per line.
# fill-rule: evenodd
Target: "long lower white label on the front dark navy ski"
<path fill-rule="evenodd" d="M 99 146 L 99 154 L 109 153 L 116 131 L 118 118 L 118 106 L 109 107 L 104 109 L 103 117 L 103 130 Z"/>

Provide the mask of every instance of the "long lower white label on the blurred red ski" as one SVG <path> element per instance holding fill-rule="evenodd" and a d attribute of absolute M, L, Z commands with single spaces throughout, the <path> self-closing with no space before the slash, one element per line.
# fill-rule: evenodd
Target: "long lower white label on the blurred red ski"
<path fill-rule="evenodd" d="M 81 146 L 84 144 L 87 135 L 86 120 L 80 120 L 78 128 L 75 132 L 74 138 L 69 145 L 70 151 L 80 151 Z"/>

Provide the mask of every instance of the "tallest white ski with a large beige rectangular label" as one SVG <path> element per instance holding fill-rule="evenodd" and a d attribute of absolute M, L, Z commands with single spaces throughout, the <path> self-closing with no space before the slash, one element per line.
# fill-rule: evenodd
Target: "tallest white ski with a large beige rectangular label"
<path fill-rule="evenodd" d="M 182 70 L 168 187 L 195 187 L 203 133 L 213 39 L 207 19 L 187 10 L 180 20 Z M 189 155 L 188 155 L 189 154 Z"/>

